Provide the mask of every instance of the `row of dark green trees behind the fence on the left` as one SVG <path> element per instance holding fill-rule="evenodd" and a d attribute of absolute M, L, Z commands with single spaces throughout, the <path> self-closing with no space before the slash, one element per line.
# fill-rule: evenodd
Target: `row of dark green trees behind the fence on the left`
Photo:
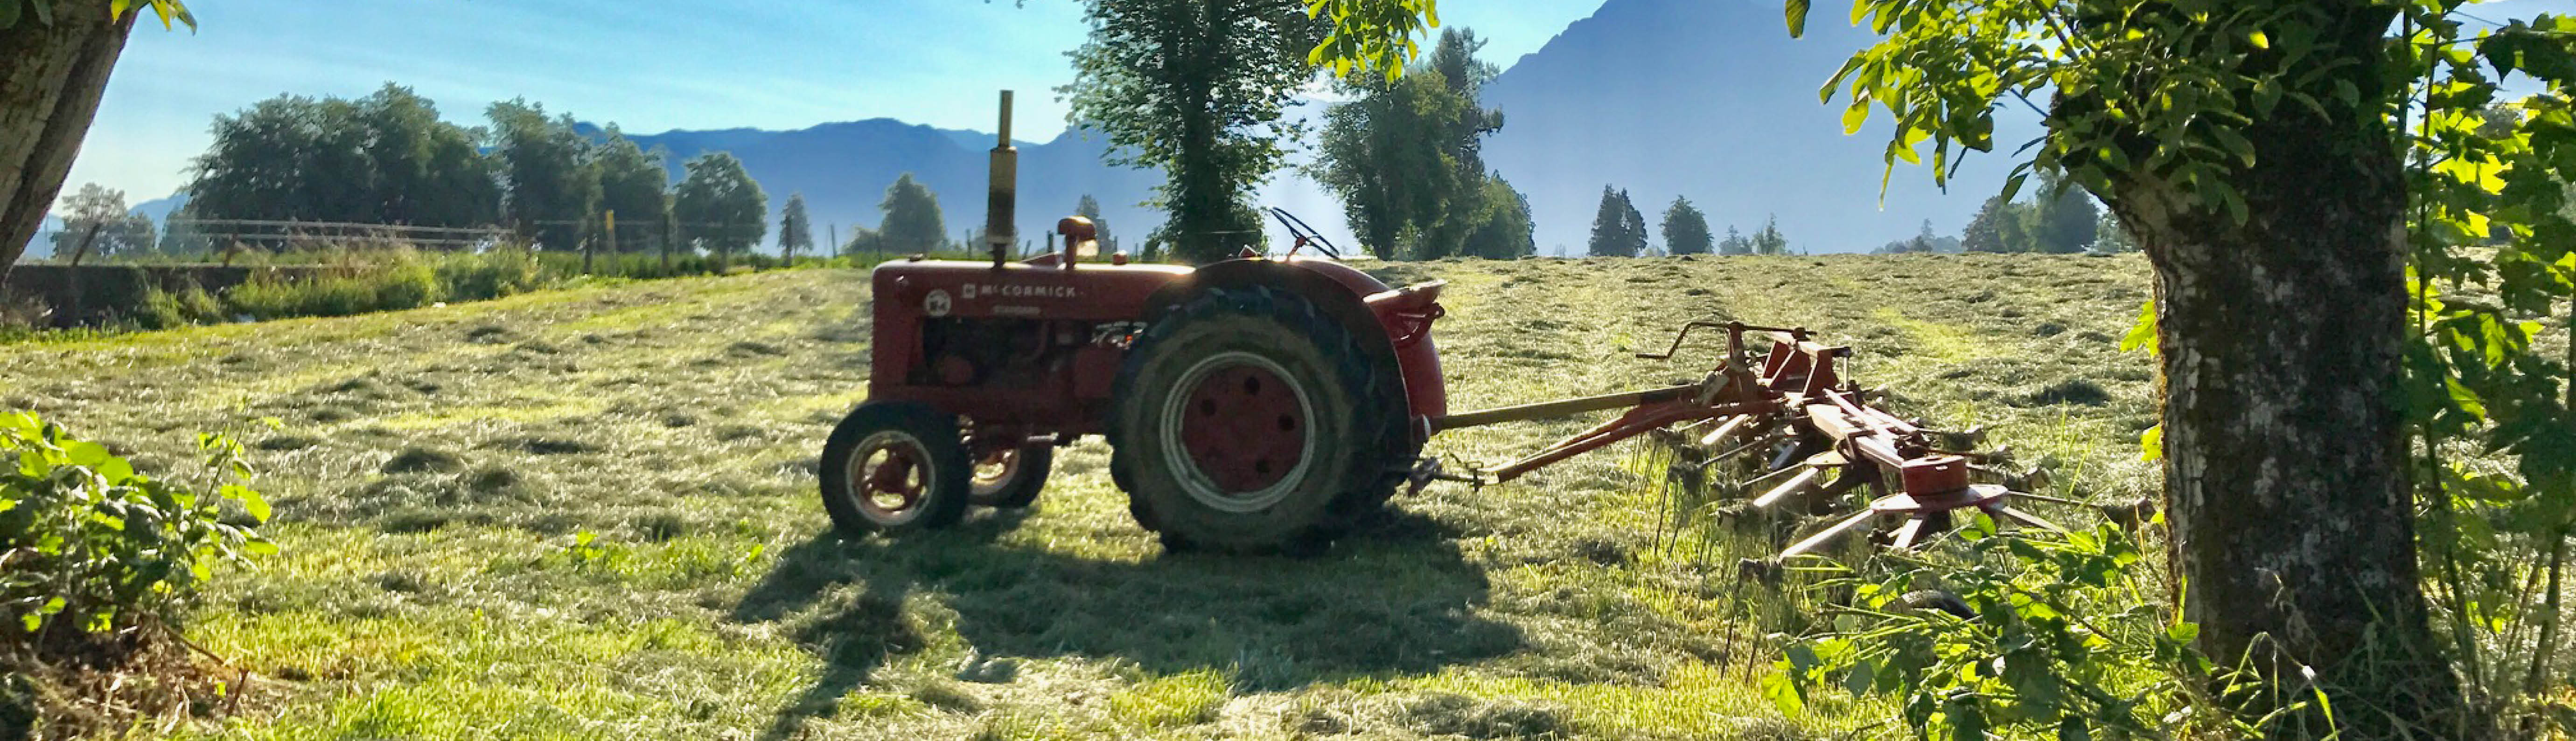
<path fill-rule="evenodd" d="M 683 165 L 616 126 L 603 139 L 528 100 L 492 103 L 489 126 L 459 126 L 402 85 L 358 100 L 278 95 L 214 118 L 196 157 L 185 219 L 407 226 L 505 224 L 546 250 L 590 239 L 618 252 L 750 250 L 768 237 L 768 196 L 724 152 Z M 796 198 L 791 206 L 801 206 Z M 618 237 L 605 242 L 616 214 Z M 811 244 L 804 208 L 783 239 Z M 783 242 L 786 244 L 786 242 Z"/>

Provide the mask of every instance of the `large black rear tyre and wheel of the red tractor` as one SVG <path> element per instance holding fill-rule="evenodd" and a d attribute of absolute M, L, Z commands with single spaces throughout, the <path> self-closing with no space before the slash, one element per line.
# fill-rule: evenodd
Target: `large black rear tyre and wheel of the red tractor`
<path fill-rule="evenodd" d="M 1118 373 L 1110 473 L 1164 545 L 1314 548 L 1386 502 L 1409 458 L 1391 368 L 1311 301 L 1208 288 Z"/>

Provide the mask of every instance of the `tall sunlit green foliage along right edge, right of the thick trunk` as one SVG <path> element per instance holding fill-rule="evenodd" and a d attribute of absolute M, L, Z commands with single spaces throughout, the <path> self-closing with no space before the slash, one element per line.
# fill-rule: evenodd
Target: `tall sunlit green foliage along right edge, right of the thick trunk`
<path fill-rule="evenodd" d="M 2406 352 L 2419 430 L 2416 481 L 2432 517 L 2432 597 L 2470 697 L 2553 700 L 2563 672 L 2563 571 L 2576 530 L 2576 355 L 2553 355 L 2540 316 L 2576 332 L 2576 18 L 2468 31 L 2447 3 L 2406 15 L 2414 80 L 2409 157 L 2416 342 Z M 2517 80 L 2522 77 L 2522 80 Z M 2504 85 L 2540 95 L 2504 100 Z M 2501 103 L 2501 105 L 2499 105 Z M 2563 352 L 2576 352 L 2568 342 Z M 2561 705 L 2563 708 L 2563 705 Z"/>

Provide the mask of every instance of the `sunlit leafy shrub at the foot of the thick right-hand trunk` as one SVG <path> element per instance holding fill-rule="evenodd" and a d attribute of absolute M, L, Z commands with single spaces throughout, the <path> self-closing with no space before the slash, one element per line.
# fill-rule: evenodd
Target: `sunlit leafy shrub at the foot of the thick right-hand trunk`
<path fill-rule="evenodd" d="M 2223 710 L 2259 682 L 2192 648 L 2200 628 L 2146 594 L 2117 525 L 1996 533 L 1976 515 L 1945 556 L 1968 566 L 1834 569 L 1816 589 L 1850 605 L 1790 641 L 1765 695 L 1790 713 L 1819 692 L 1891 695 L 1917 738 L 2254 738 L 2290 720 Z"/>

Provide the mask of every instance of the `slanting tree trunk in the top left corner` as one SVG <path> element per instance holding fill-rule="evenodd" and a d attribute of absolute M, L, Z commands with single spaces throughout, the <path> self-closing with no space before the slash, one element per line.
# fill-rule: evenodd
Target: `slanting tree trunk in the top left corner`
<path fill-rule="evenodd" d="M 62 193 L 134 15 L 111 21 L 108 3 L 98 0 L 54 3 L 52 26 L 26 13 L 0 31 L 0 59 L 8 59 L 0 64 L 0 278 Z"/>

